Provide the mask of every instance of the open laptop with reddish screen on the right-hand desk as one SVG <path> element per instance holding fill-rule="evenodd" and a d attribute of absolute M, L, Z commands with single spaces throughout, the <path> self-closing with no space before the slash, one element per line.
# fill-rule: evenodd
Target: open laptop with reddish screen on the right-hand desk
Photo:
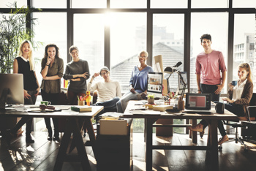
<path fill-rule="evenodd" d="M 211 94 L 186 94 L 184 113 L 211 114 Z"/>

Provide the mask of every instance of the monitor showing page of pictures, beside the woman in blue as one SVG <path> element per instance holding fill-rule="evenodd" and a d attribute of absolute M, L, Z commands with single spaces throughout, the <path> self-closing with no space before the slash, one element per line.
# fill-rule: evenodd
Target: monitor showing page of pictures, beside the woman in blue
<path fill-rule="evenodd" d="M 148 72 L 148 94 L 162 98 L 162 72 Z"/>

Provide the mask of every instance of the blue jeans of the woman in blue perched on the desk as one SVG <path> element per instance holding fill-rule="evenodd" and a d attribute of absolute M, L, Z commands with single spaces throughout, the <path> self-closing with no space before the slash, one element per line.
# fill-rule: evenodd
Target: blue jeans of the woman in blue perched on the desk
<path fill-rule="evenodd" d="M 121 99 L 116 103 L 117 112 L 124 113 L 124 110 L 127 108 L 127 104 L 129 102 L 129 100 L 138 99 L 137 94 L 139 94 L 139 93 L 136 92 L 136 94 L 133 94 L 130 91 L 125 93 L 124 96 L 122 96 Z"/>

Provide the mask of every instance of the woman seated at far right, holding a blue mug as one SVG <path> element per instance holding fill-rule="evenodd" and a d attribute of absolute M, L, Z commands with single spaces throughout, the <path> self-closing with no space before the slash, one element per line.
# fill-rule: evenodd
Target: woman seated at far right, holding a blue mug
<path fill-rule="evenodd" d="M 238 84 L 233 86 L 232 83 L 229 83 L 228 86 L 230 87 L 228 91 L 229 97 L 222 98 L 223 101 L 228 102 L 228 104 L 225 104 L 225 109 L 235 115 L 245 116 L 246 107 L 252 99 L 253 92 L 252 72 L 249 64 L 243 63 L 238 66 Z M 221 145 L 228 140 L 228 137 L 223 123 L 221 126 L 218 123 L 218 128 L 220 134 L 222 134 L 222 138 L 219 139 L 218 145 Z M 202 129 L 203 131 L 203 124 L 198 123 L 196 126 L 189 126 L 189 129 L 198 132 Z"/>

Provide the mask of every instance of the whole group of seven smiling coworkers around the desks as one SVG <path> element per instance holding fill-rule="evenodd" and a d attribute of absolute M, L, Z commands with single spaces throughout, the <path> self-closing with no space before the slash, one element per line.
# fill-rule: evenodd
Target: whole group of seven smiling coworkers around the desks
<path fill-rule="evenodd" d="M 219 102 L 219 95 L 225 86 L 226 80 L 225 60 L 222 52 L 211 49 L 210 34 L 203 34 L 200 41 L 204 51 L 197 56 L 196 60 L 197 93 L 210 93 L 211 100 Z M 104 106 L 104 110 L 100 114 L 106 111 L 124 113 L 129 100 L 146 97 L 148 72 L 154 72 L 153 68 L 146 64 L 148 53 L 141 51 L 138 54 L 140 64 L 134 66 L 129 80 L 129 92 L 121 96 L 120 84 L 118 81 L 110 79 L 110 70 L 107 66 L 103 66 L 99 72 L 94 73 L 87 86 L 86 80 L 91 76 L 89 64 L 79 58 L 78 47 L 73 45 L 69 48 L 72 61 L 67 64 L 64 72 L 64 63 L 59 57 L 59 47 L 50 44 L 45 47 L 45 56 L 42 58 L 42 84 L 39 86 L 34 72 L 32 49 L 28 40 L 23 41 L 19 48 L 19 56 L 15 58 L 13 63 L 13 73 L 23 74 L 25 104 L 35 104 L 39 89 L 41 89 L 42 100 L 50 101 L 53 105 L 58 104 L 59 93 L 61 92 L 61 77 L 64 77 L 64 80 L 69 80 L 67 88 L 69 104 L 78 104 L 77 97 L 86 96 L 87 90 L 97 90 L 97 103 L 93 105 Z M 93 83 L 94 78 L 99 75 L 104 80 Z M 253 90 L 252 72 L 249 64 L 244 63 L 238 66 L 238 84 L 233 86 L 229 83 L 228 86 L 230 87 L 229 96 L 228 98 L 222 98 L 223 101 L 228 102 L 228 104 L 225 104 L 225 109 L 236 115 L 245 115 Z M 8 134 L 15 135 L 18 129 L 26 123 L 26 142 L 34 142 L 31 137 L 31 119 L 24 116 Z M 45 124 L 48 129 L 48 140 L 59 141 L 58 118 L 53 118 L 54 134 L 50 126 L 50 118 L 45 118 Z M 202 120 L 196 126 L 189 126 L 189 129 L 203 133 L 207 125 L 207 121 Z M 218 143 L 222 144 L 222 142 L 228 140 L 222 121 L 218 122 L 218 128 L 222 134 Z"/>

